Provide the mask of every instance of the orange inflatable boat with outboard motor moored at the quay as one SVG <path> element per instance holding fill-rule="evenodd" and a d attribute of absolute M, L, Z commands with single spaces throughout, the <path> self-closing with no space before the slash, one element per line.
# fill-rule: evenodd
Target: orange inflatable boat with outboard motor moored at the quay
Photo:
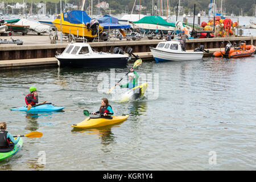
<path fill-rule="evenodd" d="M 213 53 L 214 57 L 227 57 L 227 58 L 236 58 L 236 57 L 245 57 L 251 56 L 255 53 L 255 46 L 247 45 L 245 42 L 241 43 L 239 47 L 232 47 L 231 43 L 228 43 L 224 51 L 215 51 Z"/>

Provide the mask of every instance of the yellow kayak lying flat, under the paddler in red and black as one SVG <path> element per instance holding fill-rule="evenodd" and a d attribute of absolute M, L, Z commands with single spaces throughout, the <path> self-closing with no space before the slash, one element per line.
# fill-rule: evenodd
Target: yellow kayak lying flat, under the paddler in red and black
<path fill-rule="evenodd" d="M 75 125 L 71 125 L 72 127 L 78 128 L 78 129 L 90 129 L 93 127 L 102 127 L 107 125 L 113 125 L 115 123 L 119 123 L 121 121 L 125 121 L 129 115 L 119 115 L 114 116 L 112 115 L 112 119 L 105 119 L 105 118 L 86 118 L 84 121 L 77 123 Z"/>

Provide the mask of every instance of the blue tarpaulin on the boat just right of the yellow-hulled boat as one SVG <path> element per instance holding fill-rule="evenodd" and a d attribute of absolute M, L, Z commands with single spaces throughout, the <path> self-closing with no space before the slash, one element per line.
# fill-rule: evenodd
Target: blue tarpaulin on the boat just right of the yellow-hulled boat
<path fill-rule="evenodd" d="M 98 19 L 98 22 L 105 30 L 131 27 L 130 24 L 119 24 L 118 19 L 110 15 L 104 15 L 102 18 Z"/>

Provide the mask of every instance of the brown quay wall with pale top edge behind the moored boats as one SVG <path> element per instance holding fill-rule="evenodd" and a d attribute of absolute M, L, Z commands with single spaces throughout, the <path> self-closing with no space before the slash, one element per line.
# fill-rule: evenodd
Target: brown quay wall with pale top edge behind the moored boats
<path fill-rule="evenodd" d="M 225 47 L 227 42 L 239 43 L 245 40 L 246 44 L 256 46 L 256 36 L 238 36 L 234 38 L 208 38 L 208 39 L 189 39 L 186 41 L 188 49 L 195 49 L 204 45 L 204 49 Z M 135 40 L 135 41 L 118 41 L 118 42 L 92 42 L 90 46 L 95 51 L 112 52 L 114 47 L 120 47 L 123 51 L 127 48 L 133 48 L 133 52 L 150 52 L 150 47 L 155 47 L 162 40 Z M 224 43 L 223 43 L 224 42 Z M 55 57 L 56 52 L 63 52 L 68 42 L 62 44 L 27 44 L 17 46 L 13 44 L 4 44 L 0 46 L 1 60 L 21 60 L 21 59 L 38 59 L 46 57 Z"/>

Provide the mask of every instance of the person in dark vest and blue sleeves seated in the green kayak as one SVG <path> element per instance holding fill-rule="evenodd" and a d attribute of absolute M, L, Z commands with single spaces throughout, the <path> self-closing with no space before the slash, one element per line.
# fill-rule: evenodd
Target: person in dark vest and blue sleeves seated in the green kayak
<path fill-rule="evenodd" d="M 13 150 L 14 144 L 19 142 L 20 135 L 17 135 L 17 138 L 15 139 L 13 135 L 6 131 L 6 128 L 6 122 L 0 123 L 0 152 L 9 152 Z"/>

